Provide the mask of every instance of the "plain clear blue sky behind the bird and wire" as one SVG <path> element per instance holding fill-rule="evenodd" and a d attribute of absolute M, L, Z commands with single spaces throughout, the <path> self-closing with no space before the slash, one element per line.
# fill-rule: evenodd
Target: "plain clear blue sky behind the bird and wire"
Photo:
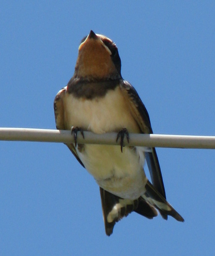
<path fill-rule="evenodd" d="M 55 129 L 53 100 L 92 29 L 117 44 L 154 133 L 215 135 L 213 1 L 1 1 L 0 126 Z M 212 255 L 215 151 L 158 148 L 179 223 L 104 231 L 98 185 L 63 144 L 0 142 L 1 255 Z"/>

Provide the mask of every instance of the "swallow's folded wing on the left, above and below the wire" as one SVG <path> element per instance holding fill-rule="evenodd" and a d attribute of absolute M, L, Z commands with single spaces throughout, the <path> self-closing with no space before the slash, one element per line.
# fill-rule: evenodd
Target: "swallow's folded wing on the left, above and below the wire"
<path fill-rule="evenodd" d="M 66 93 L 66 87 L 61 89 L 54 100 L 54 110 L 55 110 L 55 123 L 58 130 L 65 130 L 64 123 L 64 98 Z M 77 151 L 72 143 L 66 143 L 72 154 L 76 157 L 79 163 L 84 167 L 82 161 L 78 157 Z"/>

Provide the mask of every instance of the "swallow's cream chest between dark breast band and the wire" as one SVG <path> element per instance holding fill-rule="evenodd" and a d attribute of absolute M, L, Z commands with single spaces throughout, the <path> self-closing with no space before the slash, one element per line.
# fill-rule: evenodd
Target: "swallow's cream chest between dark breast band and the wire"
<path fill-rule="evenodd" d="M 107 91 L 105 96 L 93 99 L 66 94 L 64 108 L 65 126 L 68 130 L 71 126 L 78 126 L 94 133 L 117 132 L 122 128 L 133 133 L 139 132 L 119 86 Z"/>

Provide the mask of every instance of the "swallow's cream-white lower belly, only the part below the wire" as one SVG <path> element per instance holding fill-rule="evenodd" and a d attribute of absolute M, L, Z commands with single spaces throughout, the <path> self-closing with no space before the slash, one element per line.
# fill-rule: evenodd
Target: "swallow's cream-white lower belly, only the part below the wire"
<path fill-rule="evenodd" d="M 101 188 L 127 199 L 136 199 L 145 192 L 143 148 L 111 145 L 85 145 L 78 152 L 84 166 Z"/>

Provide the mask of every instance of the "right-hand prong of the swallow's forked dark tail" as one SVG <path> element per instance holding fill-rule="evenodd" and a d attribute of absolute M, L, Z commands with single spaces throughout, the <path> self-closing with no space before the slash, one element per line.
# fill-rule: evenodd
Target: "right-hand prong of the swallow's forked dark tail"
<path fill-rule="evenodd" d="M 170 215 L 176 220 L 184 222 L 181 215 L 176 212 L 172 205 L 170 205 L 167 200 L 154 188 L 151 182 L 147 181 L 145 188 L 146 192 L 141 197 L 159 210 L 164 219 L 167 219 L 167 215 Z"/>

